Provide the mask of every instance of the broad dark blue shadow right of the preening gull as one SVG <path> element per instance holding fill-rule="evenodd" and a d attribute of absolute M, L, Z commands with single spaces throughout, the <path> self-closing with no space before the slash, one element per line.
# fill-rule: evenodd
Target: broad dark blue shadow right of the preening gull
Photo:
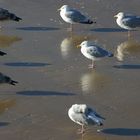
<path fill-rule="evenodd" d="M 108 128 L 102 130 L 105 134 L 119 135 L 119 136 L 139 136 L 140 129 L 135 128 Z"/>

